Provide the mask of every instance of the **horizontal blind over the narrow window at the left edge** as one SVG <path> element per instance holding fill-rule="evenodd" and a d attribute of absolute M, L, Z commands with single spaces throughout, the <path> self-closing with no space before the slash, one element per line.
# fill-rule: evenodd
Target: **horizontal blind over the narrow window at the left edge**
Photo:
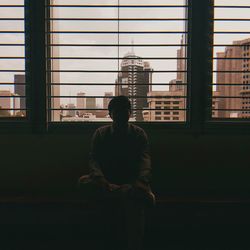
<path fill-rule="evenodd" d="M 0 119 L 25 118 L 24 0 L 0 1 Z"/>

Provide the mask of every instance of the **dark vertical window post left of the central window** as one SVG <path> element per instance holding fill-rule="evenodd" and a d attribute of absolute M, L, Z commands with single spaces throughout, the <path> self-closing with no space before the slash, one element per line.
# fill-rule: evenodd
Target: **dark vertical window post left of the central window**
<path fill-rule="evenodd" d="M 32 130 L 36 133 L 46 131 L 46 1 L 25 1 L 26 4 L 26 67 L 29 67 L 29 105 Z"/>

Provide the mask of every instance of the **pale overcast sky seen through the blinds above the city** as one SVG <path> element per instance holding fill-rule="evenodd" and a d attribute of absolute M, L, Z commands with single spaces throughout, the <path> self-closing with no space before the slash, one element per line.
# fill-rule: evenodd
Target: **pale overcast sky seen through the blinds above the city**
<path fill-rule="evenodd" d="M 0 0 L 0 5 L 23 4 L 23 0 Z M 54 0 L 54 5 L 59 4 L 113 4 L 117 5 L 118 0 Z M 121 5 L 183 5 L 184 0 L 120 0 Z M 215 5 L 245 5 L 250 6 L 250 0 L 215 0 Z M 185 8 L 52 8 L 55 18 L 184 18 Z M 119 11 L 119 13 L 118 13 Z M 23 18 L 23 8 L 0 8 L 0 18 L 20 17 Z M 221 9 L 215 8 L 215 18 L 249 18 L 249 9 Z M 232 22 L 215 21 L 215 31 L 248 31 L 250 32 L 250 21 Z M 55 31 L 114 31 L 118 30 L 118 23 L 115 21 L 55 21 Z M 0 30 L 24 30 L 23 21 L 0 21 Z M 140 57 L 177 57 L 177 50 L 180 48 L 181 32 L 185 31 L 184 21 L 165 22 L 135 22 L 121 21 L 120 31 L 178 31 L 180 34 L 126 34 L 119 36 L 120 44 L 127 44 L 127 47 L 59 47 L 60 57 L 123 57 L 132 50 L 131 44 L 176 44 L 175 47 L 134 47 L 134 52 Z M 215 44 L 232 44 L 235 40 L 250 37 L 250 34 L 215 34 Z M 118 44 L 117 34 L 57 34 L 54 41 L 59 44 Z M 24 43 L 23 34 L 0 34 L 0 43 Z M 224 51 L 225 46 L 215 47 L 214 55 Z M 24 56 L 24 47 L 0 46 L 0 57 Z M 176 70 L 176 60 L 148 60 L 151 67 L 157 70 Z M 118 70 L 121 61 L 118 60 L 60 60 L 61 70 Z M 216 65 L 216 63 L 215 63 Z M 0 60 L 0 69 L 24 70 L 24 60 Z M 216 66 L 215 66 L 216 69 Z M 63 86 L 61 95 L 76 95 L 78 92 L 85 92 L 87 95 L 102 96 L 104 92 L 113 91 L 113 86 L 91 86 L 91 83 L 114 83 L 116 73 L 61 73 L 60 81 L 63 83 L 85 83 L 89 86 Z M 153 73 L 153 90 L 167 90 L 167 86 L 157 86 L 157 83 L 169 83 L 176 78 L 176 73 Z M 0 82 L 13 83 L 14 73 L 0 72 Z M 216 81 L 216 77 L 214 82 Z M 10 89 L 11 85 L 2 85 L 0 89 Z M 73 101 L 74 100 L 70 100 Z M 62 103 L 69 102 L 69 99 L 62 100 Z M 101 99 L 98 102 L 101 103 Z"/>

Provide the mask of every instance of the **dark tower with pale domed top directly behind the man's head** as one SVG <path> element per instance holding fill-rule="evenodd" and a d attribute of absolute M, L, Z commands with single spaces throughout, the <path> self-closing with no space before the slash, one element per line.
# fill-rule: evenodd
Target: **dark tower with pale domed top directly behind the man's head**
<path fill-rule="evenodd" d="M 134 51 L 125 55 L 121 72 L 115 84 L 115 95 L 130 97 L 132 118 L 143 120 L 142 111 L 148 107 L 147 93 L 152 90 L 152 72 L 149 62 L 144 62 Z"/>

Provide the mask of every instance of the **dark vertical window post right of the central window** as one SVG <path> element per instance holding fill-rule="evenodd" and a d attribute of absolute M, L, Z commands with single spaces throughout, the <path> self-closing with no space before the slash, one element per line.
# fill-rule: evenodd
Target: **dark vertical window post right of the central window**
<path fill-rule="evenodd" d="M 190 126 L 194 133 L 201 133 L 207 119 L 209 110 L 208 94 L 211 82 L 211 0 L 190 1 L 190 83 L 189 107 Z"/>

